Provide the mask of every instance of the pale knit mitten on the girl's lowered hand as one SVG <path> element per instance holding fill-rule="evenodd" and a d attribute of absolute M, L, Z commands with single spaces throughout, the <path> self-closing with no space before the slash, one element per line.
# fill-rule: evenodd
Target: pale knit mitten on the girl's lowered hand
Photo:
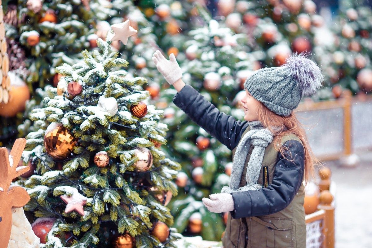
<path fill-rule="evenodd" d="M 234 199 L 231 194 L 211 194 L 209 198 L 203 198 L 204 206 L 213 213 L 225 213 L 234 210 Z"/>

